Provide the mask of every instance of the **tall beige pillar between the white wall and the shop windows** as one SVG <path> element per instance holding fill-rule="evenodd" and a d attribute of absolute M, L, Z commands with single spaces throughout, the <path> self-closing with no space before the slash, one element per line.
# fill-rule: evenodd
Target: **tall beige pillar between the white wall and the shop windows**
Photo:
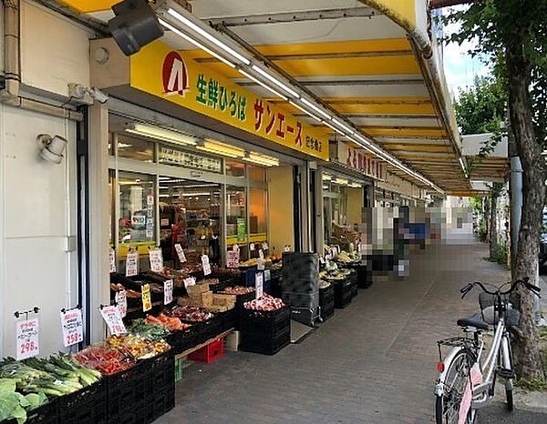
<path fill-rule="evenodd" d="M 89 181 L 89 275 L 88 305 L 91 317 L 91 342 L 105 336 L 99 306 L 109 302 L 108 226 L 108 106 L 89 107 L 88 116 Z M 118 235 L 113 235 L 118 237 Z"/>

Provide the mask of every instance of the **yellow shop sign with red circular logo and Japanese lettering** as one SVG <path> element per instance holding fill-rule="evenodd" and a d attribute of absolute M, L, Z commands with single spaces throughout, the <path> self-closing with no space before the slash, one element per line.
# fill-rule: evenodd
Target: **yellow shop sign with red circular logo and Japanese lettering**
<path fill-rule="evenodd" d="M 130 86 L 205 116 L 328 160 L 325 131 L 156 41 L 130 57 Z"/>

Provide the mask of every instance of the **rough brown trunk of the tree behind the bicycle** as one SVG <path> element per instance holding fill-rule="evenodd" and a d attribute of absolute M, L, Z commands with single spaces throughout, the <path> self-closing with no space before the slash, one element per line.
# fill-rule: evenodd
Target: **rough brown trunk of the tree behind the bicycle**
<path fill-rule="evenodd" d="M 506 45 L 509 83 L 509 111 L 511 127 L 522 163 L 522 217 L 518 252 L 514 264 L 515 277 L 529 277 L 537 286 L 539 242 L 542 227 L 542 207 L 545 197 L 545 170 L 542 150 L 537 143 L 532 126 L 530 86 L 530 61 L 523 55 L 519 36 Z M 519 290 L 521 324 L 517 328 L 514 346 L 516 371 L 525 381 L 543 377 L 538 330 L 533 318 L 533 295 Z"/>

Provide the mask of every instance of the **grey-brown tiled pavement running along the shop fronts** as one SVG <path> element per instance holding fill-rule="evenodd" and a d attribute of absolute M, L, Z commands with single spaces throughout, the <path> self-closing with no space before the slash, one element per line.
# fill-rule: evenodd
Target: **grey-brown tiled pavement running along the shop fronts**
<path fill-rule="evenodd" d="M 476 309 L 459 288 L 508 278 L 486 254 L 479 244 L 430 246 L 413 254 L 408 278 L 359 290 L 301 344 L 273 357 L 229 352 L 193 364 L 176 408 L 158 422 L 433 422 L 435 341 L 456 335 L 455 319 Z"/>

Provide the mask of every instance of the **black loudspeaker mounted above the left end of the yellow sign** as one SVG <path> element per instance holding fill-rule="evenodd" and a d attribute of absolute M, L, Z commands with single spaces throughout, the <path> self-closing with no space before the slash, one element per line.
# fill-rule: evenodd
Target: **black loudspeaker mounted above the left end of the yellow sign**
<path fill-rule="evenodd" d="M 124 0 L 112 6 L 115 17 L 108 30 L 125 56 L 131 56 L 163 35 L 163 28 L 147 0 Z"/>

